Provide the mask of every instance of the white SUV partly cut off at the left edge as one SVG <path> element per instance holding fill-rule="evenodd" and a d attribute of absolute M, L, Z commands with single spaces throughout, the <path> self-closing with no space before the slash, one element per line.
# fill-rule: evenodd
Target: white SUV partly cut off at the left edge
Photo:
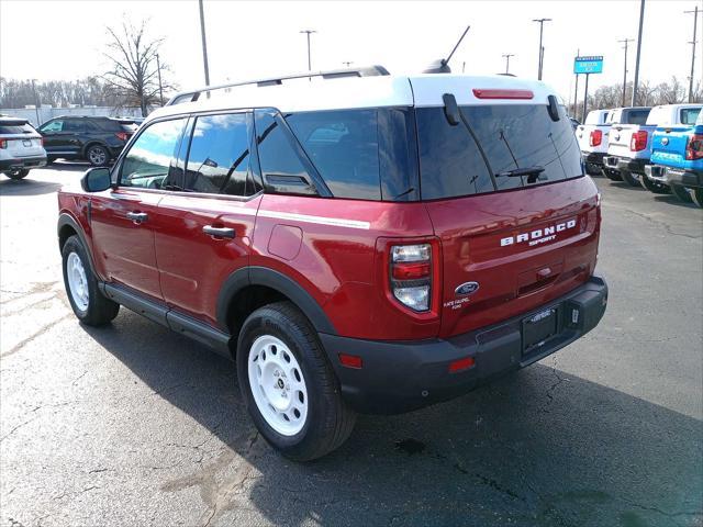
<path fill-rule="evenodd" d="M 45 165 L 42 136 L 27 120 L 0 116 L 0 172 L 10 179 L 22 179 L 30 169 Z"/>

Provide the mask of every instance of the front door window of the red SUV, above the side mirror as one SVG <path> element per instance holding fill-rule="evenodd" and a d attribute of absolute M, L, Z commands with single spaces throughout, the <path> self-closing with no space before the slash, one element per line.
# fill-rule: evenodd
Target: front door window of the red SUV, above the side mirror
<path fill-rule="evenodd" d="M 185 124 L 185 119 L 175 119 L 145 128 L 122 160 L 120 184 L 160 189 L 177 155 Z"/>

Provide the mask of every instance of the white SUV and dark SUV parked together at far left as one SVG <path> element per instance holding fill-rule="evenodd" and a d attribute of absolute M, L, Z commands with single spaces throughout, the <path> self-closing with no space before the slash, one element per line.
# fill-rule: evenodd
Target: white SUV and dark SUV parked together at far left
<path fill-rule="evenodd" d="M 143 119 L 59 116 L 35 130 L 26 119 L 0 115 L 0 172 L 25 178 L 32 168 L 56 159 L 109 165 L 126 145 Z"/>

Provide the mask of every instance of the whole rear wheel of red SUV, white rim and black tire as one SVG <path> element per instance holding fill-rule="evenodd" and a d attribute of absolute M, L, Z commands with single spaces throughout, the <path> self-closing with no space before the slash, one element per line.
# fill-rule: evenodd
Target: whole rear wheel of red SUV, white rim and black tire
<path fill-rule="evenodd" d="M 237 377 L 254 424 L 283 456 L 309 461 L 339 447 L 356 415 L 314 328 L 290 302 L 256 310 L 242 326 Z"/>

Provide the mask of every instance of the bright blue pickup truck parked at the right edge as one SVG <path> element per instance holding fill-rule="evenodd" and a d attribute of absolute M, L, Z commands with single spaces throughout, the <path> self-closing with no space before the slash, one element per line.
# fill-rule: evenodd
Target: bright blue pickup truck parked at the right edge
<path fill-rule="evenodd" d="M 659 126 L 651 136 L 645 177 L 671 188 L 681 201 L 703 208 L 703 112 L 693 125 Z"/>

